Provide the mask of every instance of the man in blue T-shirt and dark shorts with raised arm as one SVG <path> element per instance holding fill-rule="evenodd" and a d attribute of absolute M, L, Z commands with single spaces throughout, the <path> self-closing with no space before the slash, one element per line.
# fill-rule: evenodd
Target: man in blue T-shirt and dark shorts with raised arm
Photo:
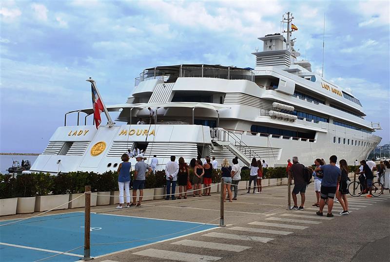
<path fill-rule="evenodd" d="M 333 198 L 336 193 L 337 183 L 341 179 L 341 170 L 336 167 L 337 156 L 332 155 L 329 158 L 330 164 L 316 167 L 314 171 L 323 171 L 324 177 L 321 181 L 321 200 L 320 200 L 320 210 L 317 211 L 317 215 L 322 216 L 322 210 L 325 206 L 325 200 L 328 198 L 328 214 L 327 217 L 333 217 L 332 208 L 333 208 Z"/>

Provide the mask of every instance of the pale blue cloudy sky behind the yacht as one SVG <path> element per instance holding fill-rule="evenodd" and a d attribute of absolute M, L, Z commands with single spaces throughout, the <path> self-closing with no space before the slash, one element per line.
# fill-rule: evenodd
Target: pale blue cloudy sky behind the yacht
<path fill-rule="evenodd" d="M 254 67 L 257 37 L 291 11 L 295 48 L 352 92 L 389 135 L 389 1 L 1 1 L 1 152 L 41 152 L 64 113 L 126 101 L 144 68 L 205 63 Z M 305 55 L 306 54 L 306 55 Z M 91 122 L 92 120 L 90 120 Z M 76 124 L 75 118 L 68 120 Z"/>

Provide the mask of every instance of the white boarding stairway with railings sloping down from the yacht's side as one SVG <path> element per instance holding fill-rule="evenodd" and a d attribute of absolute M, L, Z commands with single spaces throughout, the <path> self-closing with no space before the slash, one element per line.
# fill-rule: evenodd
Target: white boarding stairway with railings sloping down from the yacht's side
<path fill-rule="evenodd" d="M 213 143 L 227 148 L 248 167 L 250 166 L 253 157 L 260 159 L 260 156 L 245 144 L 236 133 L 223 128 L 213 128 L 210 129 L 210 134 Z"/>

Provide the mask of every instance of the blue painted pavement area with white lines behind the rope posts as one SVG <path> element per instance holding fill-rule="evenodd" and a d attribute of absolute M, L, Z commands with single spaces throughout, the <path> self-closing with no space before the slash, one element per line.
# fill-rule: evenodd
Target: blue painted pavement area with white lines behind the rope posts
<path fill-rule="evenodd" d="M 3 221 L 0 222 L 0 225 L 10 222 L 12 221 Z M 83 212 L 36 217 L 12 225 L 0 226 L 0 242 L 65 252 L 83 246 L 83 226 Z M 92 213 L 91 256 L 96 257 L 144 244 L 156 243 L 215 227 L 215 225 L 192 222 Z M 93 245 L 115 242 L 130 243 Z M 83 247 L 81 247 L 69 253 L 83 255 L 83 252 Z M 0 244 L 1 262 L 36 261 L 55 254 L 48 251 Z M 77 256 L 59 255 L 45 261 L 67 262 L 77 261 L 78 259 Z"/>

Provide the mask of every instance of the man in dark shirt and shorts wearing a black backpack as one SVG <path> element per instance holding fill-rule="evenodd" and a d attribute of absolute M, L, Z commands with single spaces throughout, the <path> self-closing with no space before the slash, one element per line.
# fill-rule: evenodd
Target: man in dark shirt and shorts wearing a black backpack
<path fill-rule="evenodd" d="M 292 166 L 289 169 L 289 176 L 294 180 L 294 188 L 292 189 L 292 200 L 294 206 L 292 210 L 304 210 L 303 205 L 305 204 L 305 192 L 308 182 L 305 180 L 305 166 L 298 162 L 298 157 L 292 157 Z M 312 174 L 310 173 L 310 177 Z M 301 194 L 301 205 L 298 207 L 296 195 Z"/>

